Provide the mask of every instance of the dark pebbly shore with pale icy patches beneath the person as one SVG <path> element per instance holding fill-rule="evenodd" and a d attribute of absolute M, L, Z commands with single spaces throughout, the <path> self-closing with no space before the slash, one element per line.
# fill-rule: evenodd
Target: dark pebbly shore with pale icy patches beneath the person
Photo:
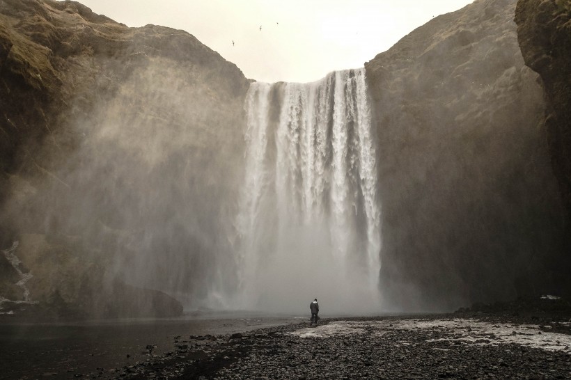
<path fill-rule="evenodd" d="M 552 306 L 556 304 L 556 306 Z M 568 303 L 475 306 L 448 315 L 322 319 L 175 337 L 176 350 L 83 379 L 569 379 Z M 542 308 L 534 308 L 541 306 Z M 559 307 L 561 306 L 561 307 Z M 565 310 L 563 310 L 565 309 Z"/>

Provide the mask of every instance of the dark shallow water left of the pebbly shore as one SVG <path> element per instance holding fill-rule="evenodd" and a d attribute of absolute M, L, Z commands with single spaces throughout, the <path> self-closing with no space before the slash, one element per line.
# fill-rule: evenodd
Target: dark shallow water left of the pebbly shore
<path fill-rule="evenodd" d="M 175 349 L 178 335 L 221 335 L 297 321 L 226 315 L 0 324 L 0 379 L 75 379 L 97 368 L 124 367 L 147 360 L 149 354 L 163 355 Z"/>

